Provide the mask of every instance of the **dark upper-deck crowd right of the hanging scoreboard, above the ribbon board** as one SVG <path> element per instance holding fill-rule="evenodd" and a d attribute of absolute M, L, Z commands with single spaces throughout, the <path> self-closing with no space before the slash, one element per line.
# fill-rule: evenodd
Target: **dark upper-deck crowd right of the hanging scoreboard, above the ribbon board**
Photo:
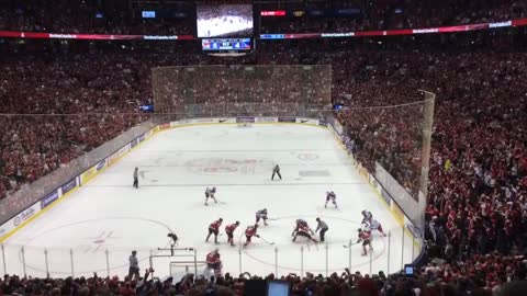
<path fill-rule="evenodd" d="M 261 33 L 344 33 L 436 27 L 506 21 L 527 16 L 525 1 L 375 1 L 355 18 L 262 18 Z M 316 5 L 307 7 L 316 10 Z M 299 8 L 296 10 L 303 10 Z M 309 14 L 309 12 L 307 12 Z"/>

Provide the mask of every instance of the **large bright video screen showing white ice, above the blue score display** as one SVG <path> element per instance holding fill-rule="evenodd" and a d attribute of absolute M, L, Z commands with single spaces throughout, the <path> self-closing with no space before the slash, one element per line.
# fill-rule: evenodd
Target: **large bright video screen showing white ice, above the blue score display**
<path fill-rule="evenodd" d="M 253 36 L 253 5 L 198 5 L 198 37 Z"/>

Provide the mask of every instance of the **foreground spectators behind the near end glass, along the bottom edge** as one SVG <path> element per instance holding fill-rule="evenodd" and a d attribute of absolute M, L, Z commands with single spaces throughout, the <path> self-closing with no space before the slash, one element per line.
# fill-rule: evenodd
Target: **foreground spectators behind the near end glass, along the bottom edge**
<path fill-rule="evenodd" d="M 429 263 L 415 271 L 413 276 L 403 273 L 385 275 L 351 273 L 349 270 L 329 276 L 306 273 L 266 277 L 244 273 L 232 276 L 205 278 L 187 274 L 181 280 L 155 277 L 154 270 L 146 270 L 142 277 L 120 278 L 67 277 L 31 278 L 4 275 L 0 280 L 2 295 L 188 295 L 188 296 L 243 296 L 251 283 L 273 280 L 287 281 L 291 296 L 519 296 L 527 288 L 527 260 L 524 257 L 481 255 L 463 263 Z M 261 294 L 259 294 L 261 295 Z"/>

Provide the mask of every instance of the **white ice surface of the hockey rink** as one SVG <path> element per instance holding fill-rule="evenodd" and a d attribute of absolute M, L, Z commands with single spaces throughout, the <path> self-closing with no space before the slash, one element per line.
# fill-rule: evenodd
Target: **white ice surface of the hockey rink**
<path fill-rule="evenodd" d="M 278 163 L 283 180 L 271 181 Z M 139 168 L 139 189 L 133 189 L 133 171 Z M 216 198 L 204 205 L 206 186 L 216 186 Z M 337 194 L 339 209 L 324 207 L 327 191 Z M 245 229 L 255 224 L 255 213 L 267 208 L 268 226 L 245 242 Z M 391 237 L 373 234 L 371 255 L 363 257 L 357 241 L 360 212 L 368 209 Z M 314 244 L 291 232 L 298 218 L 315 230 L 315 218 L 329 230 L 326 243 Z M 128 255 L 137 250 L 142 273 L 152 259 L 156 276 L 180 274 L 194 267 L 194 252 L 168 255 L 167 234 L 179 237 L 178 248 L 193 248 L 198 261 L 216 248 L 205 243 L 209 225 L 223 218 L 220 253 L 223 272 L 267 275 L 303 272 L 396 272 L 415 257 L 412 240 L 404 235 L 388 207 L 360 177 L 346 152 L 325 127 L 265 124 L 251 127 L 204 125 L 157 133 L 116 164 L 104 169 L 47 213 L 4 242 L 9 274 L 66 276 L 70 274 L 123 277 Z M 227 244 L 224 228 L 236 220 L 236 247 Z M 318 239 L 318 235 L 316 236 Z M 25 246 L 23 249 L 21 246 Z M 415 250 L 413 250 L 415 249 Z M 177 263 L 170 263 L 177 262 Z M 204 265 L 199 263 L 198 272 Z"/>

